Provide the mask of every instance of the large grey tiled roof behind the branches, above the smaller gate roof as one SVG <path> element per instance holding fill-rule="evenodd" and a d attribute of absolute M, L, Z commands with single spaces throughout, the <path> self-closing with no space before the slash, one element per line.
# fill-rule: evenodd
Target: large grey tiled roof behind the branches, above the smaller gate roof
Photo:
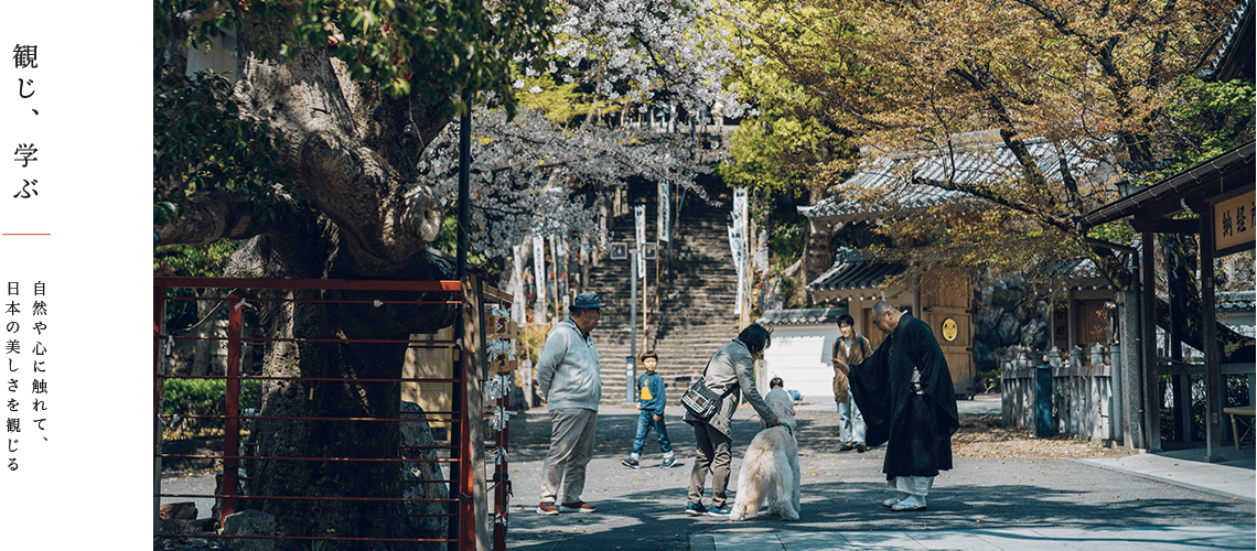
<path fill-rule="evenodd" d="M 842 183 L 842 187 L 855 186 L 865 190 L 885 188 L 894 195 L 890 210 L 923 208 L 948 202 L 975 200 L 969 193 L 940 187 L 947 182 L 982 183 L 1001 182 L 1019 178 L 1021 169 L 1013 153 L 992 133 L 975 132 L 953 138 L 962 149 L 954 156 L 948 154 L 904 154 L 877 157 L 865 163 L 861 172 Z M 1042 138 L 1026 142 L 1029 153 L 1038 159 L 1040 171 L 1050 179 L 1060 181 L 1061 158 L 1056 144 Z M 1067 162 L 1075 171 L 1079 167 L 1090 169 L 1094 161 L 1084 158 L 1072 147 L 1065 147 Z M 861 153 L 867 153 L 865 149 Z M 909 164 L 910 163 L 910 164 Z M 830 196 L 815 206 L 798 207 L 807 217 L 840 216 L 871 217 L 867 206 L 842 197 L 841 192 Z"/>

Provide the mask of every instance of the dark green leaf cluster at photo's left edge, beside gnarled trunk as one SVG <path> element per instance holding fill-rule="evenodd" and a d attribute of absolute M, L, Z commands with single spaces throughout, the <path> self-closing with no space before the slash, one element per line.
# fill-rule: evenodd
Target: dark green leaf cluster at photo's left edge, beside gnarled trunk
<path fill-rule="evenodd" d="M 239 118 L 230 89 L 217 74 L 153 88 L 153 225 L 178 216 L 191 191 L 244 191 L 255 217 L 273 216 L 272 183 L 288 173 L 266 129 Z"/>

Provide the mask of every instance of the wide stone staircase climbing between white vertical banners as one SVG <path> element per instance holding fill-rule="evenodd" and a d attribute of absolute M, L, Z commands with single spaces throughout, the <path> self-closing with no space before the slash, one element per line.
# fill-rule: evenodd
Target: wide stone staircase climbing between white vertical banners
<path fill-rule="evenodd" d="M 660 304 L 655 301 L 655 262 L 647 261 L 650 274 L 651 316 L 649 334 L 642 346 L 641 292 L 637 281 L 637 354 L 654 349 L 659 354 L 659 373 L 667 383 L 667 398 L 675 403 L 695 375 L 703 373 L 711 354 L 740 328 L 733 314 L 737 300 L 737 271 L 729 255 L 728 225 L 730 223 L 732 192 L 719 183 L 709 185 L 709 196 L 720 201 L 710 206 L 693 195 L 686 195 L 680 208 L 680 225 L 672 236 L 674 276 L 662 279 L 659 290 Z M 646 203 L 646 238 L 652 241 L 657 228 L 657 192 L 632 196 L 630 203 Z M 632 191 L 630 186 L 630 191 Z M 615 218 L 610 227 L 613 241 L 632 241 L 634 218 L 628 215 Z M 659 257 L 667 259 L 667 243 L 660 243 Z M 608 308 L 603 309 L 598 329 L 593 331 L 598 353 L 602 355 L 602 402 L 623 404 L 626 400 L 626 359 L 630 355 L 630 266 L 627 260 L 610 260 L 603 256 L 598 266 L 590 271 L 590 290 L 598 292 Z M 644 373 L 641 368 L 637 374 Z"/>

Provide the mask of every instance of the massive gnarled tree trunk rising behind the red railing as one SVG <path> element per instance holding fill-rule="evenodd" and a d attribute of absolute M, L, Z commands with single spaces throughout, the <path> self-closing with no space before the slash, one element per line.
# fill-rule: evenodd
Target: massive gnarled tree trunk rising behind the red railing
<path fill-rule="evenodd" d="M 191 23 L 189 23 L 191 21 Z M 195 19 L 176 21 L 195 24 Z M 259 36 L 288 29 L 244 25 L 241 56 Z M 185 28 L 171 31 L 181 45 Z M 185 53 L 186 55 L 186 53 Z M 167 53 L 162 85 L 181 80 L 186 58 Z M 427 243 L 440 228 L 442 206 L 416 181 L 415 159 L 450 115 L 417 94 L 388 99 L 372 83 L 353 83 L 326 48 L 300 46 L 293 62 L 248 56 L 230 98 L 243 119 L 277 138 L 279 163 L 302 196 L 277 191 L 273 216 L 259 217 L 254 197 L 231 191 L 194 191 L 181 216 L 158 225 L 162 242 L 210 243 L 248 240 L 233 255 L 225 276 L 268 279 L 449 280 L 453 265 Z M 372 117 L 376 108 L 383 108 Z M 414 124 L 416 132 L 403 134 Z M 245 299 L 451 300 L 453 294 L 259 291 Z M 436 333 L 456 318 L 456 308 L 336 302 L 256 301 L 264 335 L 273 339 L 400 339 Z M 382 378 L 402 374 L 405 344 L 268 341 L 264 375 L 300 378 Z M 268 380 L 263 417 L 400 417 L 398 383 Z M 398 423 L 373 420 L 275 419 L 254 424 L 250 441 L 263 457 L 396 459 L 402 457 Z M 234 451 L 228 451 L 229 453 Z M 407 456 L 410 457 L 410 456 Z M 398 501 L 332 501 L 284 497 L 402 498 L 396 461 L 250 461 L 241 507 L 275 517 L 280 536 L 441 538 L 407 520 Z M 427 484 L 421 484 L 427 486 Z M 411 488 L 414 489 L 414 488 Z M 272 497 L 272 498 L 268 498 Z M 310 541 L 280 541 L 279 548 L 310 548 Z M 337 550 L 431 548 L 440 545 L 342 541 Z"/>

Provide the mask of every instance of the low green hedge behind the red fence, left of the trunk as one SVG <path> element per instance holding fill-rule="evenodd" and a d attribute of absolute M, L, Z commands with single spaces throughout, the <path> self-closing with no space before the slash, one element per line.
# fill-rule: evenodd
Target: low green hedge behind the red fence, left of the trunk
<path fill-rule="evenodd" d="M 225 415 L 228 383 L 225 379 L 166 379 L 162 414 Z M 240 408 L 261 407 L 261 380 L 240 380 Z M 182 419 L 173 429 L 187 436 L 202 436 L 222 429 L 222 419 Z"/>

